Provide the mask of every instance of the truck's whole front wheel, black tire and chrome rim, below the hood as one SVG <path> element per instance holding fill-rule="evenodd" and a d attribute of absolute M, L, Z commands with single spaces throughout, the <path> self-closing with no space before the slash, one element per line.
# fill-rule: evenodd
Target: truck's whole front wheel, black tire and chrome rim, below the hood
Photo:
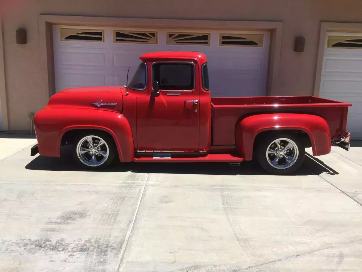
<path fill-rule="evenodd" d="M 82 133 L 75 140 L 73 157 L 87 169 L 105 169 L 114 160 L 116 147 L 113 138 L 105 132 Z"/>

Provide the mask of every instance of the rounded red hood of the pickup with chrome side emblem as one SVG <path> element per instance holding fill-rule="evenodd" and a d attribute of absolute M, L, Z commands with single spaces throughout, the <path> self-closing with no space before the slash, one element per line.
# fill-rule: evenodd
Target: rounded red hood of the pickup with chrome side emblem
<path fill-rule="evenodd" d="M 45 108 L 92 108 L 122 112 L 122 87 L 81 87 L 51 96 Z"/>

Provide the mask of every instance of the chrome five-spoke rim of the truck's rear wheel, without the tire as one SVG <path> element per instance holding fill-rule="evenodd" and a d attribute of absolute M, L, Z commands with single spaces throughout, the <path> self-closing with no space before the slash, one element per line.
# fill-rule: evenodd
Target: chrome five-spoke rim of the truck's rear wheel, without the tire
<path fill-rule="evenodd" d="M 298 155 L 298 146 L 287 138 L 274 140 L 266 150 L 266 160 L 277 169 L 289 168 L 298 160 Z"/>

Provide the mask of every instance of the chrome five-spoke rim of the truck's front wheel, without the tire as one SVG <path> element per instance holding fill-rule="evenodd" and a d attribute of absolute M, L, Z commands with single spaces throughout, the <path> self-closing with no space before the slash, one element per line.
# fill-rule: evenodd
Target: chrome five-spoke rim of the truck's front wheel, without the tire
<path fill-rule="evenodd" d="M 108 159 L 109 147 L 99 136 L 88 135 L 77 144 L 77 157 L 87 166 L 100 166 Z"/>

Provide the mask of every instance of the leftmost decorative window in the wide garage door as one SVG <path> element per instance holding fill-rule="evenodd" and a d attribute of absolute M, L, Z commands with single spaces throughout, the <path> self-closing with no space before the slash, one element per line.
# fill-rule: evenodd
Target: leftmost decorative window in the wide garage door
<path fill-rule="evenodd" d="M 100 29 L 61 28 L 61 41 L 103 42 L 104 32 Z"/>

